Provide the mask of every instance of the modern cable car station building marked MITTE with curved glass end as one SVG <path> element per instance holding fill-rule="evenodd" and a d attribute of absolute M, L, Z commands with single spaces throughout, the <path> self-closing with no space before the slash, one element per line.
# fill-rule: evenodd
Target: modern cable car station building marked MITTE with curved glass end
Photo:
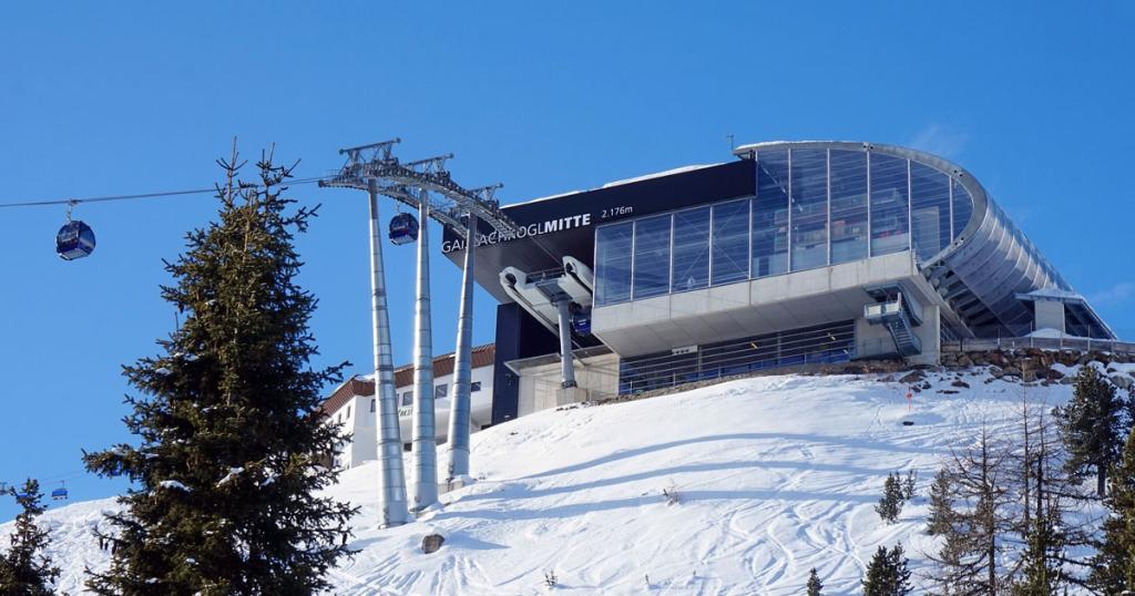
<path fill-rule="evenodd" d="M 504 207 L 511 237 L 480 228 L 494 423 L 763 369 L 935 363 L 958 338 L 1115 339 L 960 166 L 869 143 L 733 153 Z M 464 240 L 443 251 L 460 267 Z"/>

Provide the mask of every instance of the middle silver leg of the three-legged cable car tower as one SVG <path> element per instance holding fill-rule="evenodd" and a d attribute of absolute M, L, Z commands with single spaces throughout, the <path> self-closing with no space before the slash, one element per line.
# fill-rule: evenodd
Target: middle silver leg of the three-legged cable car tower
<path fill-rule="evenodd" d="M 414 301 L 413 511 L 437 503 L 437 430 L 434 423 L 434 338 L 429 297 L 429 198 L 421 192 L 418 296 Z"/>

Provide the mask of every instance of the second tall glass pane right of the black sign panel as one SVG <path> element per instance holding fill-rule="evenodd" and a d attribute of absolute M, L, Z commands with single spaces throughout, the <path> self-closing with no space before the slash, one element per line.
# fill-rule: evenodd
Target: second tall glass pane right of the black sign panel
<path fill-rule="evenodd" d="M 827 150 L 792 150 L 793 271 L 827 265 Z"/>

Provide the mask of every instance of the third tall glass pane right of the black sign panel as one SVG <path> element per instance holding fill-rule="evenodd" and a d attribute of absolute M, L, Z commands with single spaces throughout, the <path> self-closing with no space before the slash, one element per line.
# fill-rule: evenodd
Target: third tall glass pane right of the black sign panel
<path fill-rule="evenodd" d="M 867 258 L 867 152 L 832 150 L 832 263 Z"/>

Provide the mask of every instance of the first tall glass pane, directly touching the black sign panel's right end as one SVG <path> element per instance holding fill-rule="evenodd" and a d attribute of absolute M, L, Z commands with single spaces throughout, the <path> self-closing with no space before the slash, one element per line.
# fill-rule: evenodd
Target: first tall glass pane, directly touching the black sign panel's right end
<path fill-rule="evenodd" d="M 753 201 L 753 276 L 788 271 L 788 151 L 757 153 Z"/>

